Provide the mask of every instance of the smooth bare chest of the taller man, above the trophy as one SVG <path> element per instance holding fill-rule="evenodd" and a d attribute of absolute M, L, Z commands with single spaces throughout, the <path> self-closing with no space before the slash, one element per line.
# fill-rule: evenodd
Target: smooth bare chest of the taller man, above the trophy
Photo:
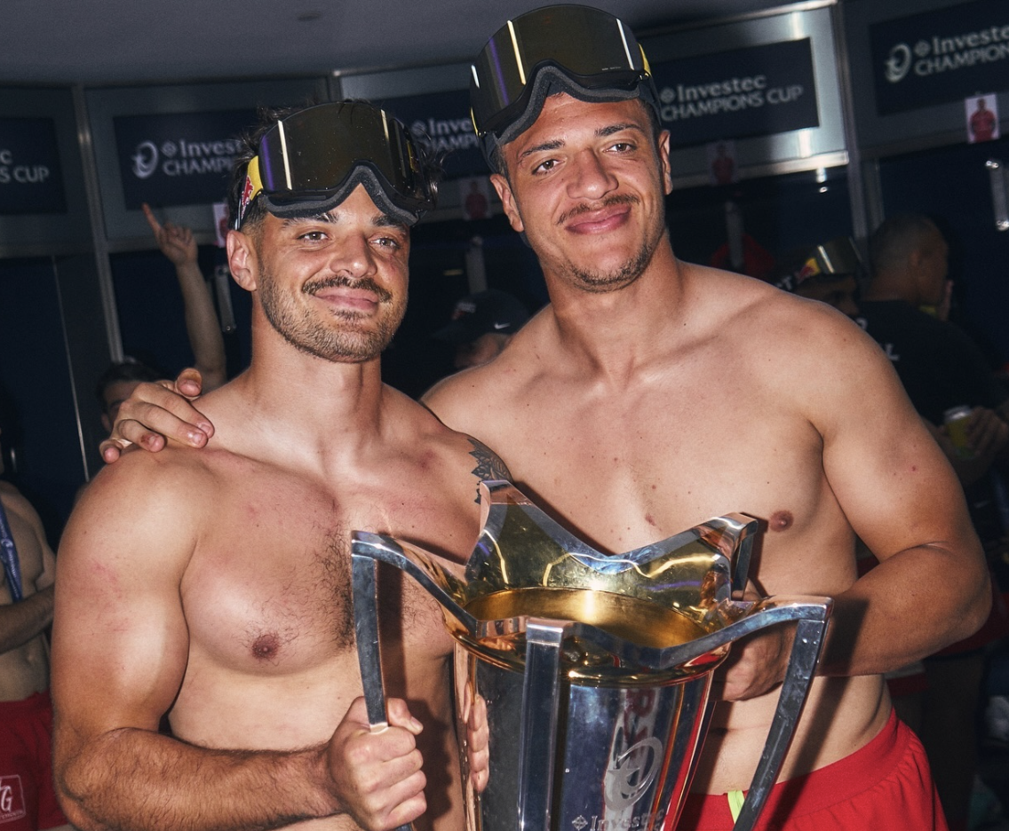
<path fill-rule="evenodd" d="M 507 438 L 487 441 L 531 496 L 603 550 L 734 511 L 762 520 L 772 548 L 788 547 L 826 514 L 840 518 L 819 434 L 774 400 L 717 386 L 537 400 L 537 412 L 515 410 Z"/>

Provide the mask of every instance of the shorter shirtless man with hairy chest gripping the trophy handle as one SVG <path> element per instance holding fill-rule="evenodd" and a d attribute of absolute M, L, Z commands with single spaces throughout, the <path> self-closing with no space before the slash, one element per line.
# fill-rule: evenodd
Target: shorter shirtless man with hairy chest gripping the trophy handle
<path fill-rule="evenodd" d="M 252 363 L 202 400 L 205 451 L 102 471 L 61 546 L 61 799 L 84 831 L 454 831 L 440 611 L 379 578 L 397 698 L 371 732 L 349 596 L 354 528 L 456 562 L 478 532 L 488 452 L 379 378 L 432 184 L 402 125 L 366 104 L 285 115 L 248 146 L 227 250 L 252 294 Z"/>

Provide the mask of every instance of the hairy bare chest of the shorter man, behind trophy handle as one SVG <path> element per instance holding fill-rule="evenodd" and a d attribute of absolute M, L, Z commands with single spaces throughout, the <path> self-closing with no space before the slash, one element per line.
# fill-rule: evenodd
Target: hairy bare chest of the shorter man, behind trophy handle
<path fill-rule="evenodd" d="M 268 492 L 230 491 L 183 581 L 194 669 L 286 677 L 346 662 L 354 647 L 351 532 L 437 537 L 442 522 L 460 519 L 426 514 L 402 499 L 340 499 L 278 482 Z M 402 630 L 419 658 L 447 652 L 437 608 L 423 590 L 389 570 L 380 576 L 379 603 L 386 628 L 398 637 Z"/>

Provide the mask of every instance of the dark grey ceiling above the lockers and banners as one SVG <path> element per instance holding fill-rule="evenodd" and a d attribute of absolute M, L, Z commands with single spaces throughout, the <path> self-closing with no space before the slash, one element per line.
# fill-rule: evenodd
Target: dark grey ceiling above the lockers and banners
<path fill-rule="evenodd" d="M 542 0 L 4 0 L 0 84 L 328 74 L 468 61 Z M 641 33 L 785 0 L 594 0 Z"/>

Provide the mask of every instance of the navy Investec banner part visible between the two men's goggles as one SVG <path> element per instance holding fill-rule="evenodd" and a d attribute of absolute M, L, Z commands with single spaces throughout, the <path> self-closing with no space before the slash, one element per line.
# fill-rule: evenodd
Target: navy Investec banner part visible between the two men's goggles
<path fill-rule="evenodd" d="M 487 163 L 469 117 L 469 91 L 451 90 L 375 102 L 445 155 L 445 179 L 485 175 Z"/>

